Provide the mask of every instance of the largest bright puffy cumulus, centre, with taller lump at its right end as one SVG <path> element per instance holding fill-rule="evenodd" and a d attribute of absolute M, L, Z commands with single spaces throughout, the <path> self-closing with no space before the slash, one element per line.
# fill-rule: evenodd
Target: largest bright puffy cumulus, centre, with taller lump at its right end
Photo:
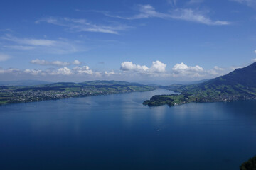
<path fill-rule="evenodd" d="M 146 67 L 145 65 L 141 66 L 139 64 L 134 64 L 132 62 L 122 62 L 120 69 L 124 72 L 135 72 L 138 74 L 156 75 L 166 72 L 166 64 L 157 60 L 155 62 L 152 62 L 151 67 Z"/>

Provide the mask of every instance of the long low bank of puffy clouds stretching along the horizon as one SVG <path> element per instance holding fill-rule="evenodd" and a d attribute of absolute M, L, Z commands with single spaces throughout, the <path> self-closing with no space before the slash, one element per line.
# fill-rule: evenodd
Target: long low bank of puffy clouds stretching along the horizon
<path fill-rule="evenodd" d="M 97 71 L 90 69 L 89 66 L 80 66 L 81 62 L 74 60 L 73 62 L 61 62 L 46 60 L 31 60 L 32 64 L 39 64 L 43 66 L 56 66 L 58 68 L 48 69 L 2 69 L 0 74 L 5 77 L 29 77 L 33 79 L 38 77 L 40 79 L 55 79 L 55 77 L 63 77 L 63 79 L 74 79 L 75 77 L 85 81 L 86 79 L 208 79 L 218 77 L 231 71 L 230 69 L 223 69 L 218 66 L 213 69 L 203 69 L 199 65 L 188 66 L 183 62 L 174 64 L 173 67 L 166 69 L 167 64 L 156 60 L 152 62 L 151 66 L 134 64 L 133 62 L 122 62 L 119 70 L 111 71 Z M 8 75 L 7 75 L 8 74 Z M 1 76 L 0 75 L 0 76 Z M 49 79 L 48 79 L 49 80 Z"/>

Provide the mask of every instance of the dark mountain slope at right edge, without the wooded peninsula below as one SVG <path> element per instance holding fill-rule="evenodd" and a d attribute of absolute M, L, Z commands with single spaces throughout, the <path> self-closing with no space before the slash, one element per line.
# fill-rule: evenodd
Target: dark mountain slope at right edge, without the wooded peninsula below
<path fill-rule="evenodd" d="M 248 67 L 235 69 L 227 75 L 210 79 L 201 84 L 192 84 L 191 86 L 182 86 L 177 91 L 195 94 L 196 92 L 208 93 L 207 96 L 213 96 L 215 93 L 220 95 L 230 94 L 231 96 L 255 96 L 256 95 L 256 62 Z M 215 92 L 210 95 L 210 92 Z"/>

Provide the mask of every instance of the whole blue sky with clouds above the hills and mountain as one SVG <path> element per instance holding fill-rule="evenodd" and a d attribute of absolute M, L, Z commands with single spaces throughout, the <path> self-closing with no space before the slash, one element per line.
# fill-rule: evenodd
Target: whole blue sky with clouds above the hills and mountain
<path fill-rule="evenodd" d="M 255 0 L 1 1 L 0 81 L 188 81 L 256 61 Z"/>

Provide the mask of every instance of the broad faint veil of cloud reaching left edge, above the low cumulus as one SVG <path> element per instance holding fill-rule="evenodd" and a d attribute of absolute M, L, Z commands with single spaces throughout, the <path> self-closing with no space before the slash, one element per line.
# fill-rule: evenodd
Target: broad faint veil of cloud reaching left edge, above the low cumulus
<path fill-rule="evenodd" d="M 36 50 L 36 52 L 52 54 L 68 54 L 84 51 L 85 47 L 80 47 L 80 43 L 72 40 L 59 38 L 58 40 L 17 38 L 13 35 L 0 37 L 2 47 L 13 50 Z"/>

